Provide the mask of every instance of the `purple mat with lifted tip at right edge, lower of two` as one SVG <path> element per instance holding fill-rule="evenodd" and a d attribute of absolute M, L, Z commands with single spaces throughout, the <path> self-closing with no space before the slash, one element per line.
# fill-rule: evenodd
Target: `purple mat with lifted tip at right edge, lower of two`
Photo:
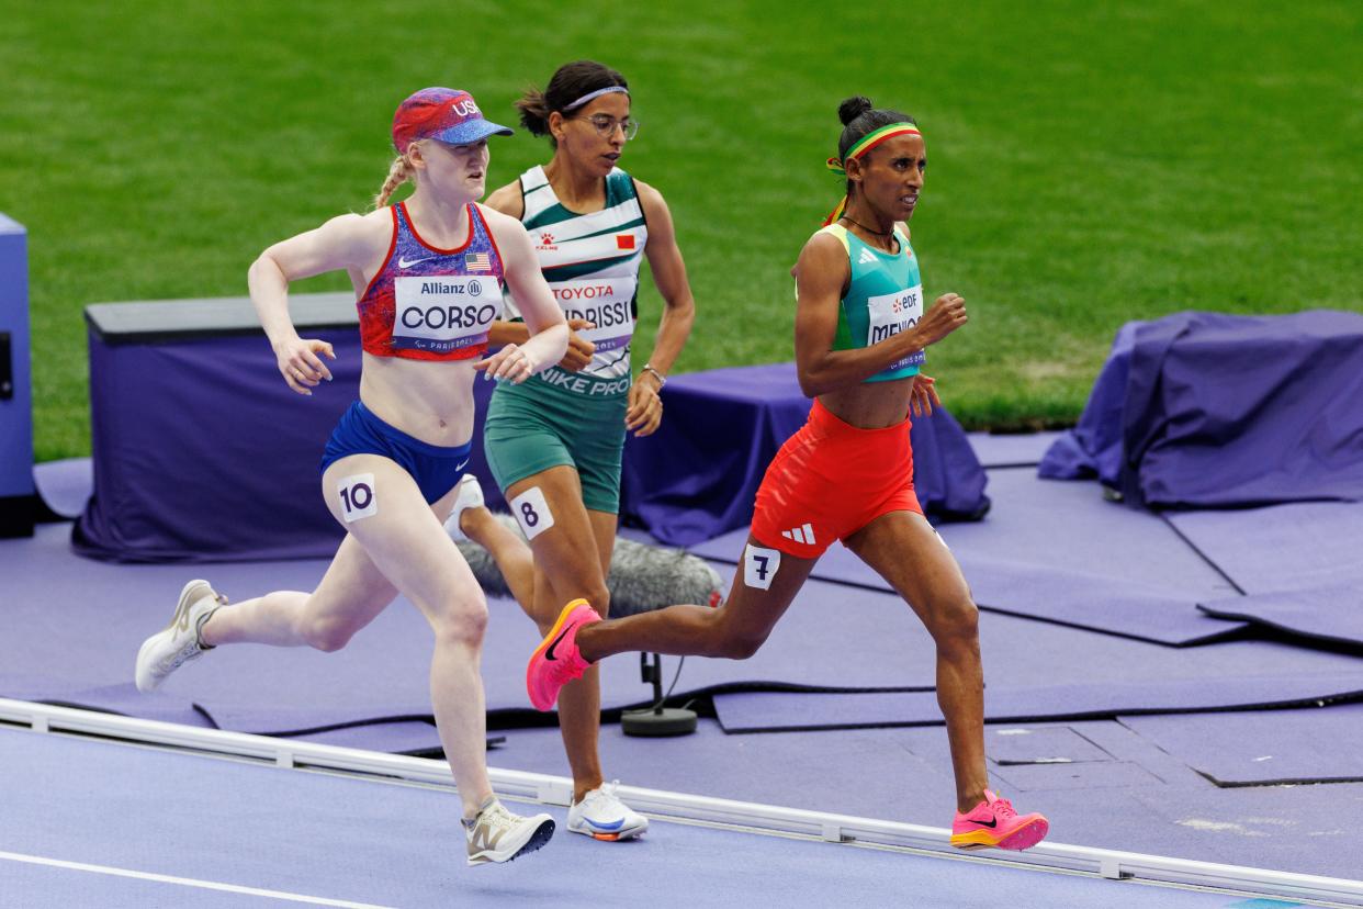
<path fill-rule="evenodd" d="M 1285 590 L 1201 602 L 1209 616 L 1332 643 L 1363 645 L 1363 585 Z"/>

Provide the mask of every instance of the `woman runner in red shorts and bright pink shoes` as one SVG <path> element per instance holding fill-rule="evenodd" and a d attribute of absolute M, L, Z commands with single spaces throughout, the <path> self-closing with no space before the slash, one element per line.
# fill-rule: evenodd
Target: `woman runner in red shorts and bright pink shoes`
<path fill-rule="evenodd" d="M 1045 837 L 988 789 L 979 613 L 961 568 L 913 493 L 909 413 L 939 403 L 923 350 L 965 324 L 945 294 L 924 311 L 904 222 L 923 189 L 927 153 L 912 117 L 849 98 L 829 168 L 846 199 L 796 264 L 795 358 L 810 421 L 777 452 L 756 495 L 752 531 L 728 602 L 669 606 L 602 621 L 585 600 L 564 606 L 530 658 L 530 700 L 548 710 L 559 688 L 602 657 L 635 650 L 752 656 L 815 561 L 841 540 L 909 604 L 936 645 L 938 703 L 955 771 L 951 845 L 1026 849 Z"/>

